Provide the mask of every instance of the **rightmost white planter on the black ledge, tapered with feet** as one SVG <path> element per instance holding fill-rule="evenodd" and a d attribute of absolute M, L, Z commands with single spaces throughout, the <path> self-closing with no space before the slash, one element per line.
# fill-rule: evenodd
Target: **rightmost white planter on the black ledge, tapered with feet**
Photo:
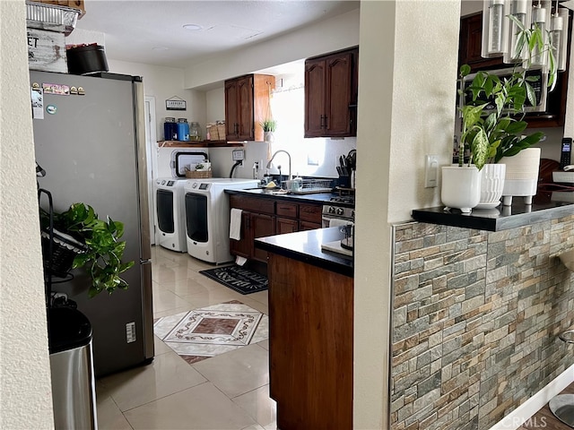
<path fill-rule="evenodd" d="M 515 195 L 524 197 L 525 204 L 532 204 L 538 186 L 540 148 L 526 148 L 513 157 L 503 157 L 500 163 L 506 164 L 502 204 L 510 206 Z"/>

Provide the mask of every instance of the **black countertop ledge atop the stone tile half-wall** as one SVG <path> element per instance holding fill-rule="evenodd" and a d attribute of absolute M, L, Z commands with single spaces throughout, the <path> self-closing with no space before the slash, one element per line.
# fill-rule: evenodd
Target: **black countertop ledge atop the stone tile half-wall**
<path fill-rule="evenodd" d="M 466 214 L 457 209 L 445 211 L 444 206 L 439 206 L 413 210 L 412 216 L 417 221 L 431 224 L 500 231 L 574 215 L 574 202 L 554 202 L 551 195 L 536 195 L 531 205 L 524 204 L 522 197 L 514 197 L 512 206 L 500 204 L 495 209 L 473 209 Z"/>

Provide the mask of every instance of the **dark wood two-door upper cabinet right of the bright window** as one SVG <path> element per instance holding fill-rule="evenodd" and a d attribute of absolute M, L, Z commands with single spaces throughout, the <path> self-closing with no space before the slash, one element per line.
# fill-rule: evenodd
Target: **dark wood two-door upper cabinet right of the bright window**
<path fill-rule="evenodd" d="M 357 135 L 359 47 L 305 61 L 305 137 Z"/>

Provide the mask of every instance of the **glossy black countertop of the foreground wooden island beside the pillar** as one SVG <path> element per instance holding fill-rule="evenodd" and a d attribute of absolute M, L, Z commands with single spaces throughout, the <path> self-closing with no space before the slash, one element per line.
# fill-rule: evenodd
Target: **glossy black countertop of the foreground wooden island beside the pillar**
<path fill-rule="evenodd" d="M 321 249 L 321 244 L 342 238 L 344 232 L 339 227 L 317 228 L 285 235 L 259 237 L 255 239 L 255 245 L 269 253 L 307 262 L 326 271 L 335 271 L 352 278 L 352 257 Z"/>

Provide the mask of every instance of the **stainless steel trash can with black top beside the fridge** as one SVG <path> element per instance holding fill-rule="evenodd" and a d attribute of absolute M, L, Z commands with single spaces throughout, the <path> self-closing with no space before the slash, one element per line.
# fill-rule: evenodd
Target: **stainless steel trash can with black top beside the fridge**
<path fill-rule="evenodd" d="M 55 428 L 96 430 L 90 321 L 71 307 L 50 308 L 48 340 Z"/>

